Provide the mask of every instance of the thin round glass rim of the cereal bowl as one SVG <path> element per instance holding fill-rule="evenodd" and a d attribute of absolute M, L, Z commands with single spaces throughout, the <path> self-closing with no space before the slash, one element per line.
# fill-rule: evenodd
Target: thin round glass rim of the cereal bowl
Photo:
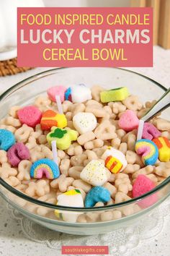
<path fill-rule="evenodd" d="M 46 77 L 48 75 L 51 75 L 51 74 L 55 74 L 56 72 L 60 71 L 60 70 L 63 70 L 63 69 L 82 69 L 82 68 L 86 68 L 86 67 L 58 67 L 58 68 L 54 68 L 54 69 L 48 69 L 44 72 L 39 72 L 37 74 L 34 74 L 30 77 L 27 77 L 26 79 L 20 81 L 20 82 L 17 82 L 17 84 L 13 85 L 11 88 L 9 88 L 8 90 L 6 90 L 4 93 L 2 93 L 0 95 L 0 103 L 3 99 L 6 98 L 6 96 L 9 96 L 11 93 L 13 93 L 15 90 L 19 89 L 22 87 L 22 84 L 24 84 L 23 86 L 27 85 L 27 83 L 30 83 L 30 82 L 33 82 L 34 80 L 37 80 L 37 79 L 40 79 L 42 77 Z M 103 67 L 94 67 L 95 69 L 103 69 Z M 139 75 L 140 77 L 143 77 L 145 78 L 146 80 L 149 80 L 151 82 L 153 82 L 156 86 L 158 86 L 159 88 L 161 88 L 162 90 L 166 91 L 167 89 L 161 85 L 160 83 L 156 82 L 155 80 L 151 79 L 150 77 L 146 77 L 145 75 L 143 74 L 140 74 L 138 72 L 134 72 L 132 70 L 129 70 L 129 69 L 122 69 L 122 68 L 116 68 L 116 67 L 104 67 L 104 69 L 121 69 L 122 71 L 124 72 L 130 72 L 130 73 L 133 73 L 133 74 L 137 74 Z M 26 83 L 25 83 L 26 82 Z M 91 212 L 91 211 L 102 211 L 102 210 L 111 210 L 111 209 L 114 209 L 114 208 L 119 208 L 119 207 L 122 207 L 122 206 L 125 206 L 125 205 L 130 205 L 132 203 L 135 203 L 135 202 L 138 202 L 140 200 L 143 200 L 145 199 L 146 197 L 149 197 L 151 195 L 153 195 L 155 192 L 158 192 L 158 190 L 162 189 L 163 187 L 166 186 L 166 184 L 169 184 L 170 182 L 170 176 L 167 177 L 164 182 L 161 182 L 161 184 L 158 184 L 158 186 L 156 186 L 155 188 L 151 189 L 149 192 L 141 195 L 140 197 L 134 197 L 130 200 L 127 200 L 125 202 L 119 202 L 117 204 L 112 204 L 112 205 L 106 205 L 106 206 L 99 206 L 99 207 L 90 207 L 90 208 L 76 208 L 76 207 L 68 207 L 68 206 L 62 206 L 62 205 L 53 205 L 49 202 L 43 202 L 43 201 L 40 201 L 40 200 L 37 200 L 35 198 L 32 198 L 32 197 L 29 197 L 28 195 L 25 195 L 24 193 L 20 192 L 19 190 L 15 189 L 14 187 L 10 186 L 8 183 L 6 183 L 4 181 L 4 179 L 1 179 L 0 177 L 0 184 L 6 188 L 7 190 L 9 190 L 9 192 L 12 192 L 12 194 L 16 195 L 17 197 L 21 197 L 23 200 L 26 200 L 26 201 L 29 201 L 29 202 L 32 202 L 34 203 L 35 205 L 41 205 L 43 207 L 46 207 L 46 208 L 53 208 L 55 210 L 65 210 L 65 211 L 73 211 L 73 212 Z M 167 195 L 166 195 L 167 196 Z M 158 201 L 157 201 L 158 202 Z"/>

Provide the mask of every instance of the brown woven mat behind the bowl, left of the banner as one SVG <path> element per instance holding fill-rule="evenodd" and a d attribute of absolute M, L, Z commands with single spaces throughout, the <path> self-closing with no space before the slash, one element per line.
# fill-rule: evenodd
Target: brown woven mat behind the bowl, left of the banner
<path fill-rule="evenodd" d="M 17 58 L 0 61 L 0 77 L 25 72 L 32 67 L 17 67 Z"/>

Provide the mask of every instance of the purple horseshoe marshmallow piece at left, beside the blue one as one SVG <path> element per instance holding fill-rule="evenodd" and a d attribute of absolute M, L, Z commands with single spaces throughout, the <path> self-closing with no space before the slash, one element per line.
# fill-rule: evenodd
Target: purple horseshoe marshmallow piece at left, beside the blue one
<path fill-rule="evenodd" d="M 22 160 L 28 160 L 30 158 L 30 150 L 24 143 L 17 142 L 9 148 L 7 158 L 13 167 L 17 167 Z"/>

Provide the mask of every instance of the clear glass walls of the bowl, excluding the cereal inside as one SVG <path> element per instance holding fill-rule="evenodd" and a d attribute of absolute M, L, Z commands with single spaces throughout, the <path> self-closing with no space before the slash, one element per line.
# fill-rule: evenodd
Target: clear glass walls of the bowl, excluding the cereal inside
<path fill-rule="evenodd" d="M 85 83 L 89 87 L 91 85 L 102 85 L 106 89 L 126 86 L 130 93 L 138 95 L 143 103 L 158 99 L 166 90 L 158 82 L 125 69 L 100 67 L 52 69 L 29 77 L 6 90 L 0 96 L 0 119 L 6 116 L 11 106 L 28 105 L 34 101 L 37 95 L 45 94 L 51 86 L 75 83 Z M 169 119 L 169 112 L 169 109 L 164 111 L 164 118 Z M 0 179 L 0 194 L 20 213 L 42 226 L 68 234 L 91 235 L 107 233 L 114 229 L 120 229 L 122 226 L 130 226 L 135 221 L 143 221 L 143 216 L 148 215 L 153 208 L 156 208 L 169 196 L 169 182 L 170 177 L 141 197 L 97 208 L 69 208 L 35 200 L 9 186 L 3 179 Z M 145 203 L 145 200 L 149 200 L 153 195 L 157 196 L 156 202 L 150 207 L 140 208 L 141 202 Z M 54 210 L 58 210 L 69 220 L 79 216 L 79 220 L 82 222 L 73 223 L 63 221 L 61 218 L 57 219 Z M 112 221 L 101 221 L 101 213 L 115 210 L 121 211 L 122 218 L 116 218 L 115 216 Z M 88 222 L 84 222 L 84 216 L 86 216 Z"/>

